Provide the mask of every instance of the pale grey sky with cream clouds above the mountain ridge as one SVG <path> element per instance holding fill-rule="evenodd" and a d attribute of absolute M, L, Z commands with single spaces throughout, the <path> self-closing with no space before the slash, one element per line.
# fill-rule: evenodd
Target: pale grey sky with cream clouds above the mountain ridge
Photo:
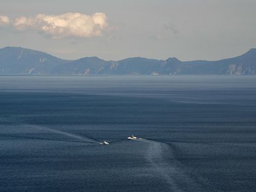
<path fill-rule="evenodd" d="M 255 0 L 0 0 L 0 48 L 219 60 L 256 47 Z"/>

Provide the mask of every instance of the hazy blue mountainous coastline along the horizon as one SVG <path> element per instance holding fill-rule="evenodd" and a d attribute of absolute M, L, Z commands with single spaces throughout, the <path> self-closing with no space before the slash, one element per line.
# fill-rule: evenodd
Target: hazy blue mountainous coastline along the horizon
<path fill-rule="evenodd" d="M 176 74 L 256 74 L 256 49 L 238 57 L 218 61 L 182 62 L 175 57 L 156 60 L 142 57 L 106 61 L 98 57 L 63 60 L 22 47 L 0 49 L 0 74 L 70 75 L 176 75 Z"/>

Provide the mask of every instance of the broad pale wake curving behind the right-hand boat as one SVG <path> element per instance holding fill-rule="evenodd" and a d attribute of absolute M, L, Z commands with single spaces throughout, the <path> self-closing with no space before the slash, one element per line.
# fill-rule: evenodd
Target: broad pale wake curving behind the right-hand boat
<path fill-rule="evenodd" d="M 140 139 L 139 142 L 148 143 L 146 160 L 153 167 L 155 174 L 161 175 L 165 180 L 169 191 L 206 191 L 196 182 L 200 175 L 191 177 L 191 170 L 186 169 L 177 158 L 175 158 L 172 148 L 167 143 L 156 142 L 154 140 Z"/>

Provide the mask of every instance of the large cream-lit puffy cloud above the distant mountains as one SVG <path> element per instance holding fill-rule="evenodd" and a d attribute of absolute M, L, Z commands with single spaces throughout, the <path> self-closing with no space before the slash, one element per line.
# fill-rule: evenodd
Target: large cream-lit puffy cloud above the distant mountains
<path fill-rule="evenodd" d="M 34 29 L 55 39 L 101 36 L 103 30 L 108 26 L 106 15 L 100 12 L 93 15 L 80 13 L 39 14 L 36 17 L 18 17 L 12 24 L 17 30 Z"/>

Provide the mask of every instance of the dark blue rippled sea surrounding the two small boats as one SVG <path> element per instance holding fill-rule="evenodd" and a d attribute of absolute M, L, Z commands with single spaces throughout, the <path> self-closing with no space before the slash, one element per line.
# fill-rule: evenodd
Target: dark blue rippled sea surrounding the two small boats
<path fill-rule="evenodd" d="M 256 76 L 0 76 L 1 192 L 255 188 Z"/>

